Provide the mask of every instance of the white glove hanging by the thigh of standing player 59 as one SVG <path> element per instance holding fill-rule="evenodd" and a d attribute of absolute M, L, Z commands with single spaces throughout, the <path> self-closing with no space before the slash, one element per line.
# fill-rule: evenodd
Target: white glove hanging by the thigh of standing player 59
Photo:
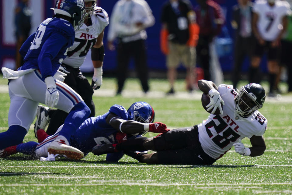
<path fill-rule="evenodd" d="M 48 76 L 45 78 L 45 83 L 47 85 L 45 104 L 54 108 L 59 100 L 59 92 L 57 91 L 56 82 L 53 76 Z"/>

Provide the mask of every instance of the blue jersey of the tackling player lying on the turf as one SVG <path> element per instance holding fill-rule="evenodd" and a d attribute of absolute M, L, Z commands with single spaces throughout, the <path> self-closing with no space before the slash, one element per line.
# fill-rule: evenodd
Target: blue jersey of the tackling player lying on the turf
<path fill-rule="evenodd" d="M 78 148 L 84 154 L 92 151 L 96 144 L 114 144 L 118 143 L 117 133 L 120 132 L 106 123 L 106 117 L 109 113 L 119 116 L 121 119 L 128 120 L 128 112 L 121 105 L 113 105 L 109 108 L 109 112 L 97 117 L 86 119 L 78 128 L 73 136 L 71 136 L 71 146 Z M 124 134 L 124 133 L 123 133 Z M 127 136 L 126 134 L 122 136 Z M 125 140 L 127 137 L 125 137 Z"/>

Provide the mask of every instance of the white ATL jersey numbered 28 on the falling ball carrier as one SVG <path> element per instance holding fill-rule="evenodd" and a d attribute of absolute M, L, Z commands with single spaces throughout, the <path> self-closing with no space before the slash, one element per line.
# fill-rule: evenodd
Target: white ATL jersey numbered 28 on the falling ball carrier
<path fill-rule="evenodd" d="M 267 120 L 259 111 L 248 118 L 236 114 L 234 98 L 238 93 L 232 85 L 219 85 L 218 91 L 225 104 L 223 114 L 210 114 L 198 125 L 202 148 L 214 159 L 221 158 L 239 139 L 262 136 L 267 128 Z"/>

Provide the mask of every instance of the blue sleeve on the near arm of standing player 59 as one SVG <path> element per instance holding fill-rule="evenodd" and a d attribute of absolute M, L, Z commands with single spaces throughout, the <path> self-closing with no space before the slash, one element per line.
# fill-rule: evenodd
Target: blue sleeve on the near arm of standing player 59
<path fill-rule="evenodd" d="M 57 43 L 57 44 L 56 44 Z M 61 34 L 51 35 L 43 44 L 37 63 L 43 78 L 53 76 L 52 59 L 54 59 L 62 47 L 68 44 L 68 38 Z"/>

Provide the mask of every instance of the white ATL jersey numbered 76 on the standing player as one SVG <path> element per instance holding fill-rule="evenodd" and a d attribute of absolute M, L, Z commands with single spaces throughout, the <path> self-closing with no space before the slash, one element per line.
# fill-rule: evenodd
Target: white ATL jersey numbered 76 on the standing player
<path fill-rule="evenodd" d="M 106 11 L 97 6 L 94 8 L 91 20 L 91 26 L 83 24 L 79 30 L 75 31 L 75 40 L 73 45 L 68 49 L 67 57 L 63 60 L 64 64 L 73 68 L 80 67 L 89 49 L 96 44 L 96 38 L 109 24 L 109 16 Z"/>

